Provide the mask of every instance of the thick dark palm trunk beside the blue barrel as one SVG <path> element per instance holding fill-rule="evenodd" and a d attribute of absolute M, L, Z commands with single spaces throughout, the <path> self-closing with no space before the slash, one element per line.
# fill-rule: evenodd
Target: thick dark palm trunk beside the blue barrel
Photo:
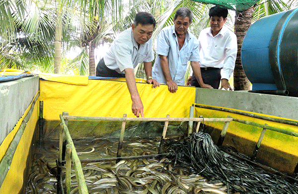
<path fill-rule="evenodd" d="M 234 33 L 237 36 L 238 51 L 234 69 L 234 91 L 250 90 L 250 82 L 247 79 L 241 61 L 241 48 L 244 36 L 251 26 L 253 7 L 242 12 L 236 12 Z"/>

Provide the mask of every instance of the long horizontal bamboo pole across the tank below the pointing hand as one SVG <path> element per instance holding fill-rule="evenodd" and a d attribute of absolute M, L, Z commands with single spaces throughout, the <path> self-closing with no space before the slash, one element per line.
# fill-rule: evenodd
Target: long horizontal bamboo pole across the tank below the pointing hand
<path fill-rule="evenodd" d="M 92 116 L 63 116 L 69 120 L 102 120 L 102 121 L 203 121 L 203 118 L 188 117 L 92 117 Z M 232 121 L 232 118 L 204 118 L 204 121 L 226 122 Z"/>

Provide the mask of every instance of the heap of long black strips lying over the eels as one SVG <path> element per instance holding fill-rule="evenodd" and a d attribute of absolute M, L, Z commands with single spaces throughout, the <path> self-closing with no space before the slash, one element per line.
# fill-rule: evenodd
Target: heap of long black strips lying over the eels
<path fill-rule="evenodd" d="M 215 145 L 209 134 L 192 134 L 183 142 L 167 141 L 175 164 L 187 166 L 210 182 L 223 182 L 228 190 L 241 194 L 298 194 L 298 184 L 290 183 L 280 172 L 269 172 L 227 154 Z M 238 153 L 239 154 L 239 153 Z M 241 157 L 246 157 L 241 155 Z M 246 157 L 246 159 L 248 159 Z"/>

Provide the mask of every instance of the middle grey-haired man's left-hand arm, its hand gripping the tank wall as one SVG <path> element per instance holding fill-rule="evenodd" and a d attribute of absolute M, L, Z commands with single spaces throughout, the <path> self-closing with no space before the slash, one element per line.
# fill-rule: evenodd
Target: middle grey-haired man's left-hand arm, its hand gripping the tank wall
<path fill-rule="evenodd" d="M 160 66 L 162 69 L 162 73 L 164 75 L 166 85 L 168 86 L 168 90 L 171 93 L 175 93 L 178 90 L 178 86 L 177 86 L 176 82 L 174 82 L 172 80 L 168 60 L 167 60 L 166 56 L 164 56 L 164 55 L 158 55 L 158 56 L 160 59 Z"/>

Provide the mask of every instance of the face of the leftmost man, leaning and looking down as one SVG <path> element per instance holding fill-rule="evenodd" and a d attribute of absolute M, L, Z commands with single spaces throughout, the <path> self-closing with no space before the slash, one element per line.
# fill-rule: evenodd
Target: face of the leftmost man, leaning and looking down
<path fill-rule="evenodd" d="M 133 36 L 135 41 L 139 45 L 143 45 L 147 43 L 147 41 L 149 41 L 149 39 L 151 38 L 154 27 L 153 27 L 153 24 L 150 24 L 150 25 L 138 24 L 137 26 L 135 26 L 135 24 L 132 24 L 132 29 L 133 29 Z"/>

